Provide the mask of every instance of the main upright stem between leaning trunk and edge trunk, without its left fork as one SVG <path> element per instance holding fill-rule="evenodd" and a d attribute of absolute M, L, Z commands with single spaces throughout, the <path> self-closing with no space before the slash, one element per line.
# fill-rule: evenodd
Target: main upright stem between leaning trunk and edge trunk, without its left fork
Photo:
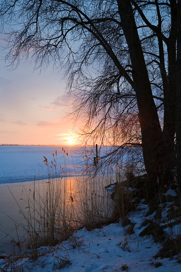
<path fill-rule="evenodd" d="M 176 38 L 177 38 L 177 1 L 170 0 L 171 28 L 167 39 L 168 88 L 164 89 L 164 127 L 163 133 L 168 154 L 168 168 L 175 166 L 174 137 L 176 123 Z M 160 29 L 161 31 L 161 29 Z"/>

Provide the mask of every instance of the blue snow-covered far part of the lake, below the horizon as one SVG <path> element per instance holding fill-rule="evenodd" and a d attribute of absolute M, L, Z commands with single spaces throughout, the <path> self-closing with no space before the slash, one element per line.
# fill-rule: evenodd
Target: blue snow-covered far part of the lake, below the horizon
<path fill-rule="evenodd" d="M 51 160 L 54 159 L 52 152 L 55 155 L 55 149 L 57 149 L 55 160 L 57 159 L 58 168 L 59 165 L 64 168 L 66 166 L 70 176 L 75 175 L 75 169 L 78 175 L 79 172 L 82 172 L 83 159 L 78 147 L 71 147 L 72 157 L 70 156 L 70 148 L 64 147 L 65 152 L 69 154 L 67 157 L 61 147 L 55 146 L 0 146 L 0 184 L 31 181 L 34 180 L 34 176 L 35 180 L 48 178 L 43 156 L 51 164 Z"/>

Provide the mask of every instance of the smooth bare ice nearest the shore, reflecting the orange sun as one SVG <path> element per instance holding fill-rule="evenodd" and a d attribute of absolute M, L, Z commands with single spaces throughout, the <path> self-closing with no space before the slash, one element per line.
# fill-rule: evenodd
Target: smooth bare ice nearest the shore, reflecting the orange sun
<path fill-rule="evenodd" d="M 14 245 L 12 240 L 14 240 L 15 245 L 18 241 L 22 242 L 23 228 L 21 226 L 24 225 L 26 227 L 27 225 L 27 221 L 23 217 L 23 213 L 27 214 L 28 212 L 27 208 L 29 206 L 29 196 L 31 199 L 30 206 L 32 206 L 33 195 L 35 192 L 35 209 L 38 208 L 39 206 L 37 205 L 39 205 L 39 200 L 44 199 L 46 196 L 48 183 L 48 179 L 35 181 L 35 188 L 34 180 L 18 183 L 0 184 L 0 255 L 4 253 L 14 253 Z M 87 180 L 84 176 L 69 176 L 63 178 L 62 180 L 61 178 L 57 178 L 57 180 L 55 179 L 55 188 L 57 188 L 56 183 L 59 183 L 59 199 L 61 202 L 63 201 L 65 203 L 65 209 L 67 209 L 66 207 L 70 205 L 69 203 L 73 202 L 74 211 L 76 212 L 76 214 L 78 214 L 79 209 L 81 209 L 80 203 L 82 201 L 82 197 L 84 197 L 84 194 L 82 194 L 82 192 L 84 193 L 85 186 L 88 191 L 92 190 L 92 184 L 95 184 L 95 190 L 98 191 L 100 190 L 100 188 L 102 188 L 104 191 L 105 188 L 105 186 L 102 184 L 102 181 L 100 184 L 103 187 L 99 187 L 97 186 L 97 182 L 95 182 L 94 179 L 92 180 L 91 178 Z M 105 194 L 108 194 L 106 190 Z M 71 199 L 73 199 L 72 202 L 70 201 Z M 33 208 L 33 210 L 35 209 Z M 21 211 L 23 211 L 23 213 Z M 18 227 L 18 236 L 15 224 Z M 15 248 L 15 251 L 16 255 L 21 253 L 20 248 L 18 248 L 17 246 Z"/>

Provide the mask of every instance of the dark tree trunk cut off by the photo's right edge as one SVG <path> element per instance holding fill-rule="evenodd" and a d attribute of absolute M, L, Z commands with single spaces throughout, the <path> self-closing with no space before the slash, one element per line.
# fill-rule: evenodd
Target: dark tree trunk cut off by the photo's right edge
<path fill-rule="evenodd" d="M 181 0 L 177 1 L 177 69 L 178 80 L 176 90 L 176 153 L 177 180 L 181 192 Z"/>

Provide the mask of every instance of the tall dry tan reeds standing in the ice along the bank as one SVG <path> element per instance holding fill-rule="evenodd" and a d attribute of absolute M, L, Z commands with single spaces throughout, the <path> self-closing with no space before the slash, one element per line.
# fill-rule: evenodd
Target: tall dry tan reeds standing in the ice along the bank
<path fill-rule="evenodd" d="M 24 187 L 26 209 L 20 208 L 25 224 L 16 225 L 18 241 L 15 247 L 36 251 L 41 246 L 54 246 L 73 236 L 76 230 L 86 227 L 88 230 L 101 228 L 102 225 L 119 221 L 129 223 L 126 215 L 132 209 L 132 199 L 129 190 L 121 185 L 123 175 L 118 171 L 96 175 L 97 168 L 88 166 L 85 161 L 85 171 L 82 177 L 68 178 L 68 158 L 71 156 L 63 148 L 65 165 L 57 165 L 57 151 L 52 153 L 53 159 L 47 166 L 48 180 L 41 185 L 34 181 L 30 188 Z M 88 156 L 87 156 L 88 158 Z M 64 175 L 64 176 L 63 176 Z M 116 182 L 116 195 L 111 199 L 105 186 Z M 43 186 L 43 189 L 40 187 Z M 23 201 L 22 200 L 22 201 Z M 24 236 L 20 237 L 18 229 L 22 227 Z M 126 230 L 125 230 L 126 231 Z"/>

